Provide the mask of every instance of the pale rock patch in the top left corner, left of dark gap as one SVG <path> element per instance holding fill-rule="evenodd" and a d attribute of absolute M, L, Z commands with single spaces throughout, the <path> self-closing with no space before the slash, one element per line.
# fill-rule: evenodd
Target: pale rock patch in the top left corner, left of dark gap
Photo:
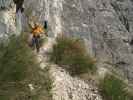
<path fill-rule="evenodd" d="M 15 4 L 12 0 L 0 0 L 0 41 L 16 34 Z"/>

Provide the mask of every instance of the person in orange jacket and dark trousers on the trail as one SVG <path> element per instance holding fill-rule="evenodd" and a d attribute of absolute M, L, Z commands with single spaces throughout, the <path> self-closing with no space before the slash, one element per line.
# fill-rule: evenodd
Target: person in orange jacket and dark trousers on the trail
<path fill-rule="evenodd" d="M 41 25 L 35 24 L 34 28 L 32 28 L 32 47 L 36 47 L 37 52 L 39 52 L 40 49 L 40 37 L 41 34 L 44 33 L 44 29 Z"/>

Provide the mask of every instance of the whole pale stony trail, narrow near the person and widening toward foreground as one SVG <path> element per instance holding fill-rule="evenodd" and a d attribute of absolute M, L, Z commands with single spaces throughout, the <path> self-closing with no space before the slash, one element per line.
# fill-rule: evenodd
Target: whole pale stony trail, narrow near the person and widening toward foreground
<path fill-rule="evenodd" d="M 48 53 L 51 52 L 54 43 L 54 38 L 48 38 L 37 56 L 42 70 L 50 67 L 49 75 L 54 86 L 51 90 L 53 100 L 102 100 L 96 87 L 71 77 L 58 65 L 48 62 Z"/>

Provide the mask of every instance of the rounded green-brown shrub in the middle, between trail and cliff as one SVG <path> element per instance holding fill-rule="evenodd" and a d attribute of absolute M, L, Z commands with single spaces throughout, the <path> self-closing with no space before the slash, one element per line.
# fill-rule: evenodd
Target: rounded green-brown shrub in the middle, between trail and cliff
<path fill-rule="evenodd" d="M 95 71 L 95 62 L 87 54 L 84 42 L 70 37 L 58 37 L 53 46 L 51 61 L 64 67 L 72 75 Z"/>

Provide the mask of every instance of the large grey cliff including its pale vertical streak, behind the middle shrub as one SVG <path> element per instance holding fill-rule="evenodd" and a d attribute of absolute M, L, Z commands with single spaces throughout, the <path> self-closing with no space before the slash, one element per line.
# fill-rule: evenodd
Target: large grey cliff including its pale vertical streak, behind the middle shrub
<path fill-rule="evenodd" d="M 100 66 L 111 64 L 133 80 L 132 0 L 25 0 L 24 5 L 29 18 L 48 20 L 50 36 L 83 38 Z"/>

